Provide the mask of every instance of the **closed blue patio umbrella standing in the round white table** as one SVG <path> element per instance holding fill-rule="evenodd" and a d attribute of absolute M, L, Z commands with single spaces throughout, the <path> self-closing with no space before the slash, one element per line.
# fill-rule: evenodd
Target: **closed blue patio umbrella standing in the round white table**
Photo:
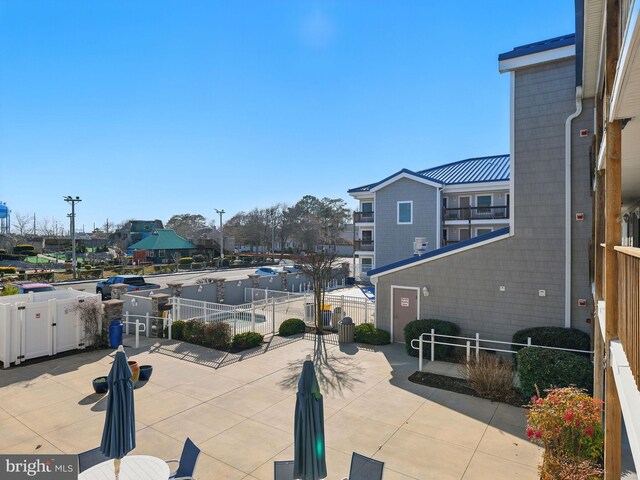
<path fill-rule="evenodd" d="M 109 396 L 107 397 L 107 415 L 102 430 L 100 451 L 114 459 L 115 478 L 120 475 L 120 460 L 136 448 L 135 413 L 133 406 L 133 381 L 131 367 L 122 345 L 118 347 L 116 357 L 107 377 Z"/>

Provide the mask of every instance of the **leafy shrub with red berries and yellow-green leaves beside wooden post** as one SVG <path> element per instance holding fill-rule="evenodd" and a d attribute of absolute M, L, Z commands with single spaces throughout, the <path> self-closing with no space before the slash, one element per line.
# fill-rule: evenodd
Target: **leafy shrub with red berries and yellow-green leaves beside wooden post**
<path fill-rule="evenodd" d="M 541 478 L 598 478 L 604 454 L 602 402 L 575 387 L 547 391 L 529 403 L 527 436 L 545 447 Z M 573 472 L 573 476 L 567 473 Z"/>

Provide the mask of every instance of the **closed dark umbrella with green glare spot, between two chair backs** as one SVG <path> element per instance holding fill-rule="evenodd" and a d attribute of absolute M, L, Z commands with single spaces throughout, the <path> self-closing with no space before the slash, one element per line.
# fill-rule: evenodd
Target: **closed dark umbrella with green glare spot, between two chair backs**
<path fill-rule="evenodd" d="M 324 406 L 313 362 L 307 357 L 296 397 L 293 478 L 318 480 L 326 476 Z"/>

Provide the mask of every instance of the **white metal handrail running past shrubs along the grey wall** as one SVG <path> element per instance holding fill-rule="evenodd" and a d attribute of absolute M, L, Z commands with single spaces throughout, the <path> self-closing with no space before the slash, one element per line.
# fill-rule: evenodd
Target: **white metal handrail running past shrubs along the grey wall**
<path fill-rule="evenodd" d="M 436 340 L 436 337 L 461 340 L 464 343 L 439 342 Z M 428 340 L 425 340 L 425 338 L 428 338 Z M 416 346 L 416 342 L 418 342 L 417 346 Z M 432 328 L 431 332 L 425 332 L 421 334 L 418 338 L 414 338 L 413 340 L 411 340 L 411 348 L 413 348 L 414 350 L 418 350 L 418 369 L 421 372 L 424 364 L 424 344 L 425 343 L 428 343 L 430 346 L 430 358 L 432 362 L 435 360 L 436 345 L 447 345 L 450 347 L 464 348 L 466 350 L 467 361 L 471 359 L 472 350 L 475 353 L 476 360 L 480 358 L 481 350 L 489 350 L 491 352 L 510 353 L 510 354 L 518 353 L 511 349 L 506 350 L 504 348 L 483 347 L 481 345 L 482 343 L 490 343 L 495 345 L 509 345 L 512 347 L 536 347 L 536 348 L 546 348 L 547 350 L 562 350 L 564 352 L 587 353 L 590 355 L 593 354 L 592 350 L 576 350 L 573 348 L 561 348 L 561 347 L 549 347 L 547 345 L 535 345 L 532 343 L 531 337 L 527 337 L 527 343 L 514 343 L 514 342 L 504 342 L 500 340 L 489 340 L 486 338 L 480 338 L 479 333 L 476 333 L 475 337 L 444 335 L 444 334 L 436 333 L 435 330 Z"/>

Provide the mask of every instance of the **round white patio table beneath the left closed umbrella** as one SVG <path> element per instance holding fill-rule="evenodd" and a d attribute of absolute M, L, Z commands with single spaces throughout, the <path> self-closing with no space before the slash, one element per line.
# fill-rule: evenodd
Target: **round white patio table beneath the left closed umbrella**
<path fill-rule="evenodd" d="M 130 455 L 120 464 L 120 480 L 162 480 L 169 478 L 169 465 L 149 455 Z M 78 480 L 114 480 L 113 460 L 94 465 L 78 476 Z"/>

